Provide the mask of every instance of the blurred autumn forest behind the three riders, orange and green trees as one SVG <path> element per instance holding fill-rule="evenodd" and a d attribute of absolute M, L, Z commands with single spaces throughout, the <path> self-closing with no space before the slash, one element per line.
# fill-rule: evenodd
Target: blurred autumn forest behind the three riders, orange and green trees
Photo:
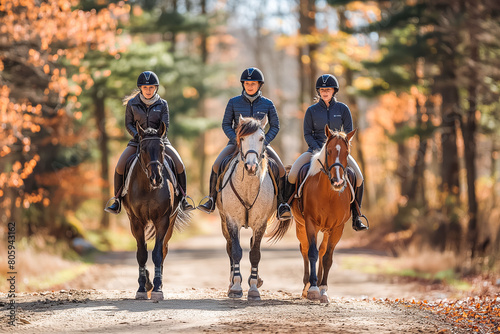
<path fill-rule="evenodd" d="M 346 229 L 356 246 L 498 272 L 495 0 L 0 0 L 0 245 L 16 222 L 30 254 L 134 249 L 126 215 L 103 211 L 130 139 L 123 97 L 142 71 L 158 74 L 198 202 L 226 144 L 225 105 L 251 66 L 278 110 L 272 145 L 285 164 L 306 149 L 316 78 L 339 79 L 371 223 Z M 207 217 L 196 213 L 188 233 Z"/>

